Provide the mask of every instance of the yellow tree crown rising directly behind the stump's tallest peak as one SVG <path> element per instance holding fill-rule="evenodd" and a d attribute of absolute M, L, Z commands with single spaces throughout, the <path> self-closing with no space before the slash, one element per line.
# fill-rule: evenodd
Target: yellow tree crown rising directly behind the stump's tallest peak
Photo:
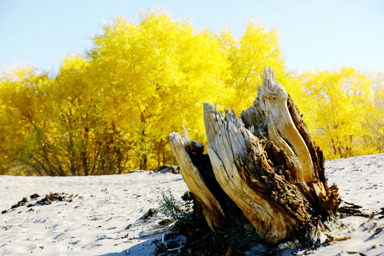
<path fill-rule="evenodd" d="M 260 21 L 249 21 L 245 35 L 236 41 L 230 31 L 221 35 L 229 64 L 229 78 L 226 80 L 228 97 L 222 97 L 221 103 L 226 108 L 233 108 L 236 113 L 249 107 L 257 96 L 257 86 L 261 85 L 262 70 L 265 65 L 272 68 L 278 80 L 287 78 L 281 46 L 277 31 L 265 31 Z"/>

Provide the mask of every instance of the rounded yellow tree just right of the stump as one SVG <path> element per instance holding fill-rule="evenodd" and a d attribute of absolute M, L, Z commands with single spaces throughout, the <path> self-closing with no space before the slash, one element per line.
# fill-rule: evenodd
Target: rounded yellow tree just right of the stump
<path fill-rule="evenodd" d="M 327 159 L 378 153 L 365 127 L 373 112 L 372 83 L 355 68 L 304 72 L 304 120 Z"/>

